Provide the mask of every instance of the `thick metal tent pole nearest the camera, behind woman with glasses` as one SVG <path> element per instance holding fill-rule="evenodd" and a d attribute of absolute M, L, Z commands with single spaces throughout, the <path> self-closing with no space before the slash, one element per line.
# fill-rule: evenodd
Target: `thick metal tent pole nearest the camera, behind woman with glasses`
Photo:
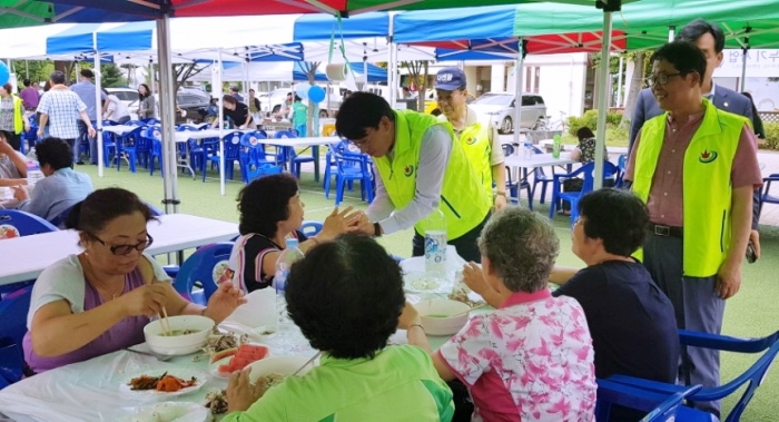
<path fill-rule="evenodd" d="M 165 212 L 178 213 L 178 149 L 176 147 L 176 81 L 170 65 L 170 16 L 157 20 L 157 57 L 159 63 L 159 111 L 162 125 L 162 186 Z M 151 67 L 154 75 L 154 66 Z M 152 84 L 154 86 L 154 84 Z M 180 257 L 180 256 L 179 256 Z"/>

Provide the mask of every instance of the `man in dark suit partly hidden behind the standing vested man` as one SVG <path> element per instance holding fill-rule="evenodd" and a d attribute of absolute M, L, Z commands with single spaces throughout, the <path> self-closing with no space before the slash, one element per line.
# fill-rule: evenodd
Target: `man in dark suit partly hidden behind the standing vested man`
<path fill-rule="evenodd" d="M 722 63 L 722 50 L 724 49 L 724 33 L 722 29 L 717 23 L 710 23 L 703 19 L 696 19 L 679 31 L 677 41 L 692 42 L 698 46 L 703 52 L 703 56 L 706 56 L 706 75 L 703 76 L 703 85 L 701 86 L 703 97 L 710 99 L 720 110 L 740 115 L 748 118 L 750 121 L 755 121 L 755 117 L 752 116 L 752 101 L 732 89 L 714 84 L 711 78 L 714 73 L 714 69 Z M 630 121 L 628 156 L 630 156 L 630 151 L 633 149 L 635 137 L 641 131 L 644 121 L 662 114 L 663 110 L 658 106 L 652 89 L 642 89 L 635 101 L 633 118 Z M 757 257 L 760 257 L 760 234 L 758 233 L 759 205 L 760 189 L 757 189 L 755 190 L 752 205 L 752 230 L 749 234 L 749 242 L 755 246 Z"/>

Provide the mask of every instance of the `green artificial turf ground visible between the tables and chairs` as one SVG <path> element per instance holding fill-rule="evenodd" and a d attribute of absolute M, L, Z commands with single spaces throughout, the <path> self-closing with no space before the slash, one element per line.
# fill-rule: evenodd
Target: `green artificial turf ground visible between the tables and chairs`
<path fill-rule="evenodd" d="M 159 205 L 162 198 L 162 179 L 159 174 L 149 176 L 147 173 L 130 174 L 127 169 L 117 171 L 106 169 L 103 178 L 97 177 L 95 166 L 79 166 L 92 177 L 96 188 L 120 186 L 132 190 L 145 200 Z M 140 168 L 139 168 L 140 171 Z M 237 175 L 237 171 L 236 171 Z M 216 175 L 211 175 L 216 177 Z M 239 181 L 227 184 L 227 195 L 219 195 L 219 181 L 209 178 L 206 183 L 200 178 L 193 180 L 187 176 L 179 176 L 178 193 L 181 199 L 179 212 L 199 215 L 227 222 L 237 222 L 236 196 L 244 186 Z M 335 188 L 331 199 L 325 199 L 322 185 L 314 183 L 312 174 L 303 174 L 300 181 L 300 195 L 306 205 L 305 218 L 323 220 L 334 206 Z M 359 202 L 359 193 L 348 193 L 343 205 L 353 205 L 365 209 L 366 204 Z M 523 205 L 526 203 L 523 202 Z M 160 206 L 161 207 L 161 206 Z M 545 214 L 549 208 L 545 205 L 538 206 L 536 210 Z M 553 220 L 561 241 L 561 253 L 558 263 L 568 266 L 581 266 L 582 263 L 571 253 L 570 220 L 566 217 L 555 217 Z M 152 234 L 154 235 L 154 234 Z M 411 238 L 413 229 L 395 233 L 379 238 L 378 242 L 393 254 L 400 256 L 411 255 Z M 743 267 L 743 284 L 741 291 L 728 301 L 724 326 L 722 332 L 734 336 L 763 336 L 779 330 L 779 311 L 777 311 L 777 297 L 779 297 L 779 229 L 777 227 L 761 227 L 762 255 L 756 264 Z M 722 380 L 729 381 L 742 373 L 751 365 L 758 355 L 739 355 L 727 353 L 722 355 Z M 738 392 L 740 395 L 740 392 Z M 762 386 L 758 390 L 749 408 L 743 414 L 743 421 L 776 421 L 779 415 L 779 373 L 769 372 Z M 723 414 L 732 409 L 734 399 L 726 400 Z"/>

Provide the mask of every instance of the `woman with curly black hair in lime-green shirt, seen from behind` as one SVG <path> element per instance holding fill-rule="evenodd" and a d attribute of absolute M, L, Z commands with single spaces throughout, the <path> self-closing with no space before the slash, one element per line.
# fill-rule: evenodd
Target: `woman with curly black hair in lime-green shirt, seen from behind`
<path fill-rule="evenodd" d="M 286 300 L 323 352 L 319 365 L 267 392 L 240 372 L 227 387 L 225 422 L 451 421 L 452 391 L 427 353 L 387 346 L 405 302 L 403 276 L 375 241 L 347 234 L 316 246 L 293 265 Z"/>

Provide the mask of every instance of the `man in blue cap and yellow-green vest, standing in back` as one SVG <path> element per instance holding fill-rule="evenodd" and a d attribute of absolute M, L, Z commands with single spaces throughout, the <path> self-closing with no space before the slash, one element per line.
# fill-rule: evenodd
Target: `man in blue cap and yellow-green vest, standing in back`
<path fill-rule="evenodd" d="M 455 67 L 444 68 L 435 77 L 435 91 L 442 121 L 452 124 L 471 166 L 476 170 L 484 194 L 495 210 L 506 205 L 506 173 L 503 148 L 497 128 L 487 121 L 479 121 L 476 110 L 467 106 L 465 72 Z M 493 181 L 497 189 L 493 199 Z"/>

